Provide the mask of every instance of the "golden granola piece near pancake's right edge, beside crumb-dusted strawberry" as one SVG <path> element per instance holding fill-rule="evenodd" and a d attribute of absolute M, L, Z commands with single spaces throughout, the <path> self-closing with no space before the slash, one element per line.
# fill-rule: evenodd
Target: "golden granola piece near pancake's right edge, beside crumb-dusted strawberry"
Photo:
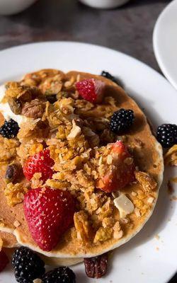
<path fill-rule="evenodd" d="M 142 185 L 142 188 L 145 191 L 150 192 L 156 189 L 157 183 L 154 180 L 154 178 L 152 178 L 152 176 L 149 175 L 149 173 L 145 173 L 141 171 L 135 172 L 135 178 L 137 179 L 139 184 Z"/>

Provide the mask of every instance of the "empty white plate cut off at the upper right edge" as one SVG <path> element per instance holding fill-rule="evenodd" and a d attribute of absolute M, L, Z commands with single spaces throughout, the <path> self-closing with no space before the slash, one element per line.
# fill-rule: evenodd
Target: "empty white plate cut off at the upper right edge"
<path fill-rule="evenodd" d="M 156 21 L 153 43 L 161 71 L 177 89 L 177 0 L 172 1 Z"/>

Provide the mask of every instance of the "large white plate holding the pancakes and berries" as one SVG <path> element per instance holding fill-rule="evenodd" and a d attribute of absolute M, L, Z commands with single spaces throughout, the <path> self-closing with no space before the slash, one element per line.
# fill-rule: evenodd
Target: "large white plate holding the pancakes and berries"
<path fill-rule="evenodd" d="M 79 70 L 118 76 L 125 89 L 144 108 L 154 126 L 176 122 L 177 95 L 166 79 L 125 54 L 95 45 L 76 42 L 42 42 L 0 52 L 0 83 L 20 79 L 23 74 L 42 68 Z M 166 283 L 176 272 L 177 202 L 170 201 L 166 182 L 174 172 L 165 173 L 158 203 L 151 219 L 135 238 L 113 253 L 108 275 L 88 279 L 84 265 L 74 267 L 77 283 Z M 159 235 L 159 239 L 155 237 Z M 11 267 L 0 275 L 0 282 L 13 283 Z"/>

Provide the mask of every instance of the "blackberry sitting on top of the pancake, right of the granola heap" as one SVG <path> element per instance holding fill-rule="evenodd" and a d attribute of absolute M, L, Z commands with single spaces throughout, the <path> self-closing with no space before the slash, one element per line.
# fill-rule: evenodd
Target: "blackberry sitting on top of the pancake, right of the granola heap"
<path fill-rule="evenodd" d="M 123 134 L 129 129 L 135 120 L 134 112 L 130 109 L 120 109 L 110 118 L 110 129 L 115 134 Z"/>

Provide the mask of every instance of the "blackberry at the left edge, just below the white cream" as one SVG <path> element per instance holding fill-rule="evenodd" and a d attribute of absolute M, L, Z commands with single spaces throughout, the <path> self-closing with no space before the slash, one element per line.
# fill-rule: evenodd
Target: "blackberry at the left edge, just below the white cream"
<path fill-rule="evenodd" d="M 9 121 L 5 121 L 4 125 L 0 127 L 0 134 L 7 139 L 13 139 L 18 134 L 19 129 L 18 123 L 10 119 Z"/>

